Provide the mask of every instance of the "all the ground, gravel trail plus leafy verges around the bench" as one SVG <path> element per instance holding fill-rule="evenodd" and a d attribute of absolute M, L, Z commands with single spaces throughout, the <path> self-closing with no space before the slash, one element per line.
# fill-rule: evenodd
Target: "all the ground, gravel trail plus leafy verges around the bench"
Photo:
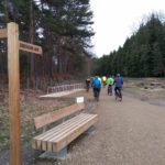
<path fill-rule="evenodd" d="M 23 165 L 164 165 L 165 164 L 165 79 L 125 79 L 122 102 L 102 88 L 100 101 L 92 91 L 41 100 L 41 90 L 21 91 L 21 139 Z M 86 111 L 99 121 L 90 134 L 80 135 L 68 146 L 65 161 L 41 160 L 31 147 L 36 134 L 32 118 L 85 97 Z M 9 164 L 8 91 L 0 92 L 0 164 Z"/>

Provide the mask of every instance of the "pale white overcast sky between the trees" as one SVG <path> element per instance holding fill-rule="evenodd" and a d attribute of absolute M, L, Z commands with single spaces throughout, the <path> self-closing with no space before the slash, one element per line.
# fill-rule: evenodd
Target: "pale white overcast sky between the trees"
<path fill-rule="evenodd" d="M 151 13 L 165 13 L 165 0 L 90 0 L 92 52 L 101 57 L 122 46 Z"/>

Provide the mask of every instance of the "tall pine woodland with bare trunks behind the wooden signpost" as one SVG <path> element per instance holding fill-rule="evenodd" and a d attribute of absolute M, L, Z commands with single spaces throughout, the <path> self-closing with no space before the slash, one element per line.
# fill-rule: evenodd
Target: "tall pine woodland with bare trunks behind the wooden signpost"
<path fill-rule="evenodd" d="M 26 87 L 84 77 L 90 70 L 95 34 L 89 0 L 2 0 L 0 28 L 16 22 L 20 40 L 43 47 L 43 55 L 20 52 L 21 81 Z M 7 40 L 0 41 L 0 79 L 8 81 Z"/>

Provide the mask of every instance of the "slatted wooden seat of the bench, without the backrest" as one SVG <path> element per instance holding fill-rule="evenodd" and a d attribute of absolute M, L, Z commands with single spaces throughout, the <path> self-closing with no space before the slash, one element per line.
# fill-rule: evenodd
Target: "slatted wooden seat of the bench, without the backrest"
<path fill-rule="evenodd" d="M 97 114 L 81 113 L 56 128 L 35 136 L 33 148 L 59 151 L 97 121 Z"/>

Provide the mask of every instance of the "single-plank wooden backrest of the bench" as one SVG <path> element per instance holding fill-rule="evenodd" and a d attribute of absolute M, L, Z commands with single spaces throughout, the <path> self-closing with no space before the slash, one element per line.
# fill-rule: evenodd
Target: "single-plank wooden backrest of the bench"
<path fill-rule="evenodd" d="M 73 114 L 77 111 L 82 110 L 82 109 L 85 109 L 84 103 L 75 103 L 75 105 L 72 105 L 69 107 L 65 107 L 65 108 L 58 109 L 58 110 L 53 111 L 53 112 L 42 114 L 42 116 L 33 119 L 34 127 L 35 127 L 35 129 L 40 129 L 44 125 L 47 125 L 47 124 L 55 122 L 59 119 L 63 119 L 65 117 L 68 117 L 68 116 Z"/>

